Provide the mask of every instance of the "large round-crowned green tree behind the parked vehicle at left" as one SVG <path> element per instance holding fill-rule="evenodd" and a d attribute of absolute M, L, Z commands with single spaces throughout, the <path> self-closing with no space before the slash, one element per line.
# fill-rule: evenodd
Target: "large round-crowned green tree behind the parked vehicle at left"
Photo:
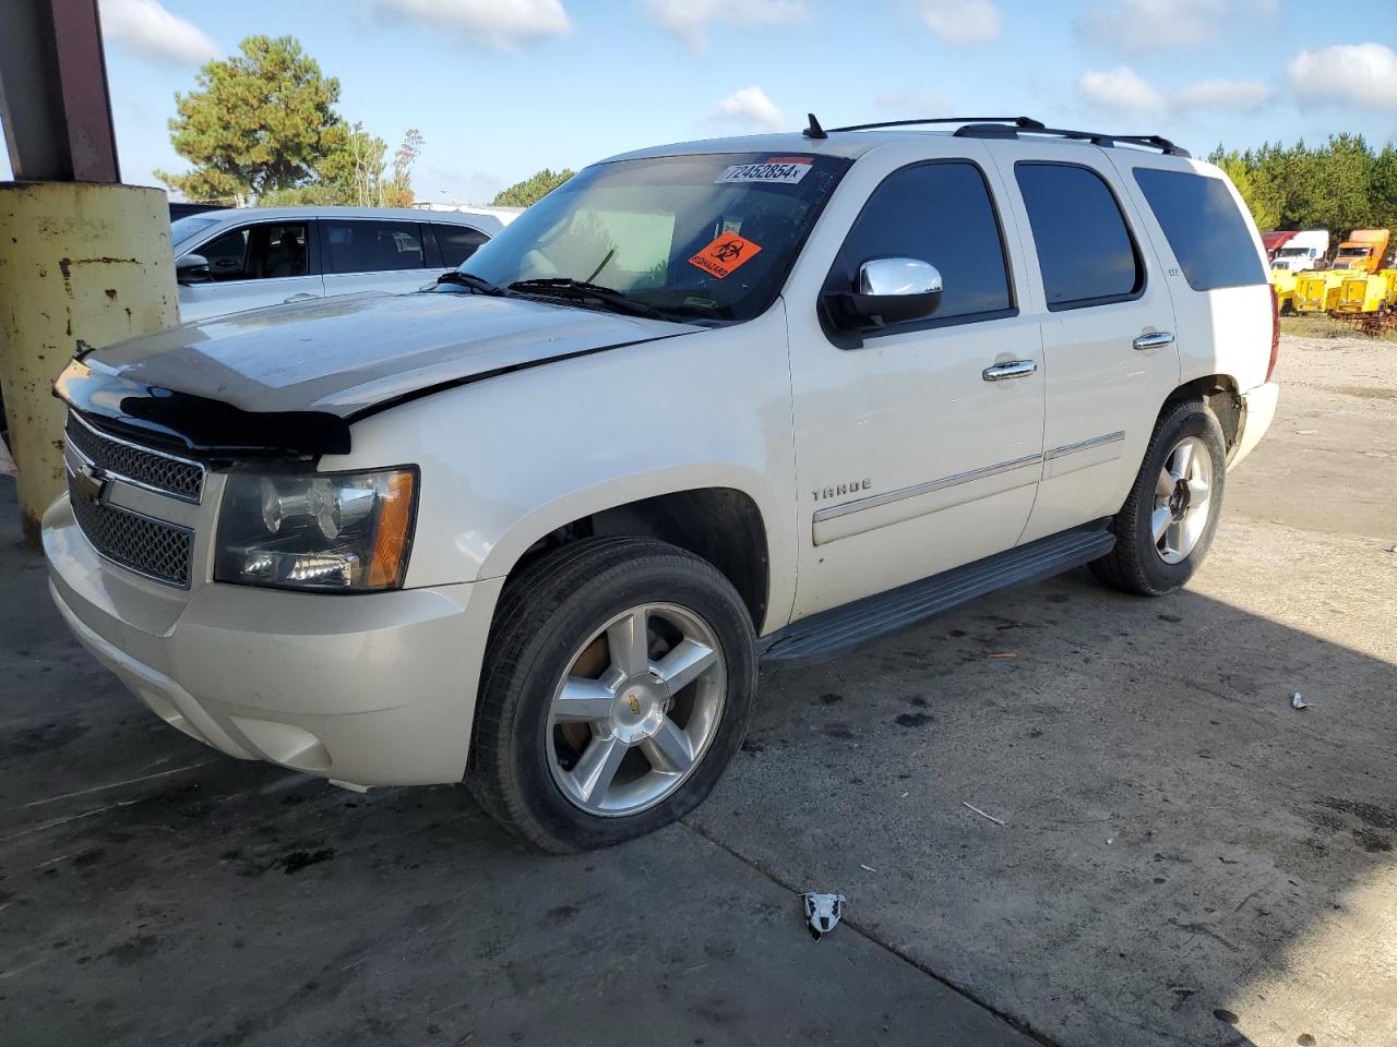
<path fill-rule="evenodd" d="M 303 188 L 353 138 L 334 109 L 339 81 L 321 75 L 295 38 L 249 36 L 237 47 L 207 63 L 194 91 L 175 95 L 170 144 L 193 170 L 155 174 L 191 200 L 246 202 Z"/>

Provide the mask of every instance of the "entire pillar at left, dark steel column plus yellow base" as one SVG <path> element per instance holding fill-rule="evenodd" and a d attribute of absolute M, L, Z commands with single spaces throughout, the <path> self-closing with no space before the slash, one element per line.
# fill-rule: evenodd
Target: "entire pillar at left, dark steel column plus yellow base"
<path fill-rule="evenodd" d="M 179 320 L 163 190 L 120 186 L 96 0 L 0 0 L 0 396 L 24 537 L 63 490 L 53 380 L 77 343 Z"/>

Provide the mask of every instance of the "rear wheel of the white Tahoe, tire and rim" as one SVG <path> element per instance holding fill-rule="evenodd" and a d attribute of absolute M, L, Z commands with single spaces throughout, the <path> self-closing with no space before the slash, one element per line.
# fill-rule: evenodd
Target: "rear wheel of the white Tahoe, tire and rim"
<path fill-rule="evenodd" d="M 1166 505 L 1160 505 L 1168 490 L 1166 466 L 1173 475 L 1179 472 L 1182 459 L 1176 451 L 1185 445 L 1200 456 L 1196 466 L 1190 462 L 1190 469 L 1199 476 L 1185 484 L 1186 493 L 1179 493 L 1175 483 Z M 1201 461 L 1204 455 L 1206 462 Z M 1204 472 L 1206 486 L 1200 489 Z M 1091 572 L 1115 589 L 1141 596 L 1164 596 L 1180 588 L 1197 571 L 1213 544 L 1225 484 L 1227 447 L 1217 415 L 1201 399 L 1166 405 L 1150 437 L 1130 497 L 1111 522 L 1116 546 L 1090 564 Z M 1206 500 L 1200 490 L 1206 493 Z M 1157 540 L 1155 526 L 1162 518 L 1155 514 L 1165 508 L 1182 508 L 1185 515 L 1175 515 L 1165 537 Z M 1201 521 L 1189 515 L 1199 508 L 1206 510 Z"/>

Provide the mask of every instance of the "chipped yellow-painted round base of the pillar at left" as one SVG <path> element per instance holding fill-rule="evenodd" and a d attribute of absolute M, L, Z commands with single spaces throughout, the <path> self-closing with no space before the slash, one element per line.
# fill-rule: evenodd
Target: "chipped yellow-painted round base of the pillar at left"
<path fill-rule="evenodd" d="M 18 466 L 27 544 L 63 490 L 63 405 L 53 380 L 94 348 L 179 322 L 165 191 L 0 181 L 0 395 Z"/>

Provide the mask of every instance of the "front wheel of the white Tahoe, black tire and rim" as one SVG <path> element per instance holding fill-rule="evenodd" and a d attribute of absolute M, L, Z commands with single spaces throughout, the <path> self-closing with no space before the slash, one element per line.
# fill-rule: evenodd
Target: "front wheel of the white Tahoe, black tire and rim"
<path fill-rule="evenodd" d="M 637 623 L 647 641 L 627 656 L 613 638 L 636 635 Z M 690 646 L 668 658 L 682 642 Z M 700 652 L 701 669 L 683 683 L 687 652 Z M 671 692 L 659 670 L 672 666 Z M 500 596 L 467 786 L 541 850 L 641 836 L 708 796 L 742 745 L 756 685 L 750 614 L 712 564 L 644 537 L 571 543 Z"/>

